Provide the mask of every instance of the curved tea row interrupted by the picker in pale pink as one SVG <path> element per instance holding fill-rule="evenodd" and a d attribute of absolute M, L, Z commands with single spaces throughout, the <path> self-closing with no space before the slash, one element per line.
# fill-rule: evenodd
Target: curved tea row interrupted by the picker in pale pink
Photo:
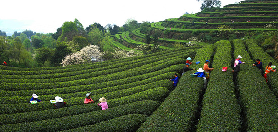
<path fill-rule="evenodd" d="M 133 95 L 107 100 L 107 103 L 109 108 L 112 108 L 112 107 L 133 103 L 136 101 L 142 101 L 142 100 L 161 101 L 163 98 L 165 98 L 168 95 L 168 93 L 169 90 L 167 88 L 163 88 L 163 87 L 153 88 Z M 55 108 L 48 109 L 48 110 L 39 109 L 33 111 L 28 110 L 29 112 L 24 111 L 24 113 L 2 114 L 0 115 L 1 117 L 0 119 L 1 119 L 1 124 L 15 124 L 15 123 L 33 122 L 33 121 L 40 121 L 40 120 L 46 120 L 52 118 L 73 116 L 73 115 L 88 113 L 97 110 L 101 110 L 100 106 L 97 106 L 97 103 L 92 103 L 92 104 L 67 106 L 60 109 L 55 109 Z"/>

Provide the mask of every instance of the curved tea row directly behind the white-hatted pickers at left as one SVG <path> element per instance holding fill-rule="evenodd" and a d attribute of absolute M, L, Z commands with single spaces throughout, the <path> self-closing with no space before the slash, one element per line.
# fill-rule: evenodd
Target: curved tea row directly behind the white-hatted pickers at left
<path fill-rule="evenodd" d="M 31 96 L 33 93 L 36 93 L 37 95 L 67 94 L 67 93 L 76 93 L 76 92 L 81 92 L 81 91 L 97 90 L 97 89 L 102 89 L 102 88 L 106 88 L 106 87 L 114 87 L 114 86 L 118 86 L 118 85 L 124 85 L 124 86 L 129 87 L 130 85 L 134 86 L 134 85 L 138 85 L 138 84 L 144 84 L 144 83 L 146 84 L 146 83 L 150 83 L 152 81 L 158 81 L 161 78 L 163 78 L 163 79 L 168 78 L 170 75 L 170 73 L 168 73 L 168 72 L 182 71 L 183 67 L 184 67 L 183 64 L 172 65 L 170 67 L 158 70 L 156 72 L 151 72 L 151 73 L 133 76 L 133 77 L 120 79 L 120 80 L 101 82 L 101 83 L 97 83 L 97 84 L 70 86 L 70 87 L 56 88 L 56 89 L 40 89 L 40 90 L 19 90 L 19 91 L 0 90 L 0 96 L 1 97 L 3 97 L 3 96 L 11 97 L 14 95 Z M 151 80 L 149 78 L 151 78 Z"/>

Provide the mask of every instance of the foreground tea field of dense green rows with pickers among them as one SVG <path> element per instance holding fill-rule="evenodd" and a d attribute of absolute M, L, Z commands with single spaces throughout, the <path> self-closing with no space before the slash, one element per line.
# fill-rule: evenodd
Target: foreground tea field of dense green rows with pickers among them
<path fill-rule="evenodd" d="M 246 64 L 237 76 L 231 72 L 237 55 Z M 211 61 L 210 80 L 184 73 L 185 58 L 192 68 Z M 1 66 L 1 131 L 275 131 L 278 129 L 277 73 L 269 84 L 252 67 L 260 58 L 278 64 L 253 39 L 222 40 L 194 46 L 92 64 L 53 68 Z M 196 64 L 195 61 L 200 61 Z M 229 67 L 222 72 L 222 67 Z M 266 67 L 266 66 L 265 66 Z M 84 104 L 86 93 L 98 101 L 105 97 L 108 109 Z M 42 102 L 30 104 L 36 93 Z M 66 107 L 49 102 L 60 96 Z M 58 123 L 57 123 L 58 122 Z M 120 125 L 119 125 L 120 124 Z M 55 129 L 54 129 L 55 127 Z"/>

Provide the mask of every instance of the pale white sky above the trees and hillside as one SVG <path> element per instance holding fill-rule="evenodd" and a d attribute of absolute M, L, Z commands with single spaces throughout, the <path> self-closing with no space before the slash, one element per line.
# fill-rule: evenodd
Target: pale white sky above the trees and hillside
<path fill-rule="evenodd" d="M 222 6 L 241 0 L 221 0 Z M 200 12 L 197 0 L 4 0 L 1 2 L 0 30 L 11 36 L 14 31 L 32 30 L 55 33 L 66 21 L 78 19 L 84 28 L 95 22 L 103 27 L 121 27 L 128 19 L 158 22 L 178 18 L 185 12 Z M 5 12 L 4 12 L 5 11 Z"/>

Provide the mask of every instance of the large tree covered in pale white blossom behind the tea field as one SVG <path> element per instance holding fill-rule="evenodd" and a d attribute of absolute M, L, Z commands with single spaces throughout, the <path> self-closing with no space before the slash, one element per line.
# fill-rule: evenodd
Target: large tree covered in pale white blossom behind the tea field
<path fill-rule="evenodd" d="M 84 64 L 90 62 L 100 61 L 102 53 L 99 50 L 99 47 L 96 45 L 89 45 L 82 48 L 80 51 L 76 53 L 72 53 L 67 55 L 62 60 L 62 65 L 72 65 L 72 64 Z"/>

